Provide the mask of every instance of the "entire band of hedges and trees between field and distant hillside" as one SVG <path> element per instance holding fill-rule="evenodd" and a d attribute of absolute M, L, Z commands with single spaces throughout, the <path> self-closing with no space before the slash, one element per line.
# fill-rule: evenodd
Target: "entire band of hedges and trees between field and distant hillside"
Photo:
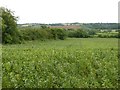
<path fill-rule="evenodd" d="M 24 27 L 19 28 L 22 40 L 46 40 L 46 39 L 60 39 L 65 40 L 70 38 L 119 38 L 117 30 L 91 30 L 86 28 L 80 29 L 62 29 L 49 28 L 41 26 L 41 28 Z"/>

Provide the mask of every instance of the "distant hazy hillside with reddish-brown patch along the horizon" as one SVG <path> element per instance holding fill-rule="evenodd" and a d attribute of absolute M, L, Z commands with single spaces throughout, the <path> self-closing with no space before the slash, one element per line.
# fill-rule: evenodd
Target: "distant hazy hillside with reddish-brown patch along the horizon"
<path fill-rule="evenodd" d="M 41 24 L 41 23 L 25 23 L 18 24 L 18 27 L 35 27 L 47 26 L 50 28 L 64 28 L 64 29 L 118 29 L 118 23 L 54 23 L 54 24 Z"/>

